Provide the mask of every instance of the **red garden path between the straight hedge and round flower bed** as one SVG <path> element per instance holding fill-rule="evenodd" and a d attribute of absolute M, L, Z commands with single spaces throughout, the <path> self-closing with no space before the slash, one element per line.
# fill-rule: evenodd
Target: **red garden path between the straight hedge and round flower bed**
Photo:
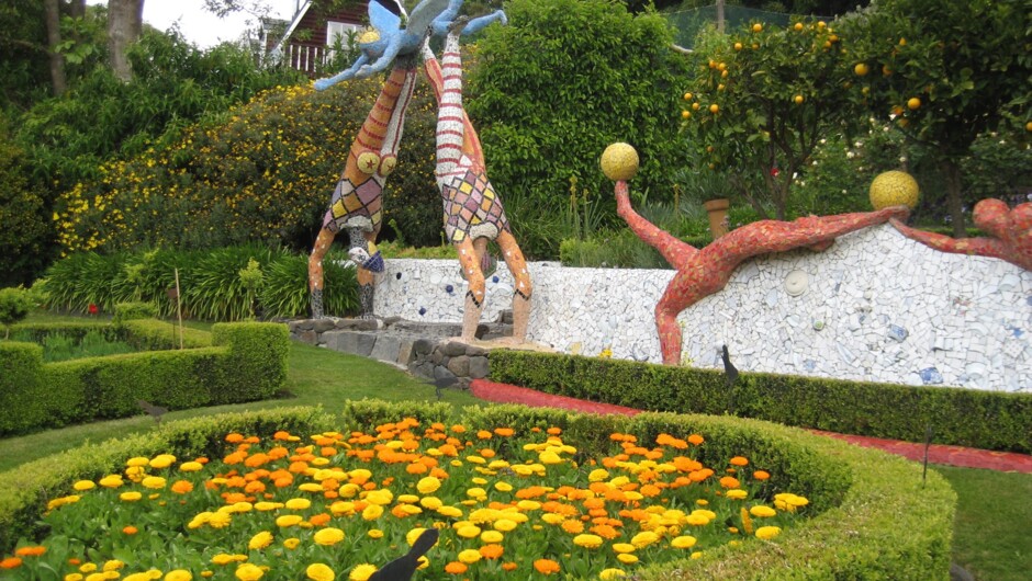
<path fill-rule="evenodd" d="M 543 394 L 541 391 L 535 391 L 534 389 L 508 384 L 496 384 L 486 379 L 473 379 L 473 381 L 470 383 L 470 391 L 480 399 L 497 403 L 523 403 L 537 408 L 561 408 L 587 413 L 621 413 L 625 415 L 633 415 L 642 411 L 610 403 L 596 403 L 594 401 L 584 401 L 565 396 Z M 898 440 L 884 440 L 880 437 L 835 434 L 833 432 L 822 432 L 819 430 L 810 430 L 810 432 L 844 440 L 857 446 L 879 448 L 911 460 L 920 460 L 924 457 L 924 444 L 901 442 Z M 1014 471 L 1032 474 L 1032 456 L 1013 452 L 992 452 L 988 449 L 966 448 L 963 446 L 932 444 L 928 449 L 928 462 L 960 466 L 962 468 L 985 468 L 1003 472 Z"/>

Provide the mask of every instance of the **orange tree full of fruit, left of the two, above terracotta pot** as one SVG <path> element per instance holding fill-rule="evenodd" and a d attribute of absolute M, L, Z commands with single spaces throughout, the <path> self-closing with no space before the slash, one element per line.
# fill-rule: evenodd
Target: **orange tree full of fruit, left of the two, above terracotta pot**
<path fill-rule="evenodd" d="M 688 58 L 682 128 L 699 158 L 763 217 L 784 219 L 793 182 L 822 136 L 852 114 L 844 36 L 827 23 L 751 23 L 704 33 Z"/>

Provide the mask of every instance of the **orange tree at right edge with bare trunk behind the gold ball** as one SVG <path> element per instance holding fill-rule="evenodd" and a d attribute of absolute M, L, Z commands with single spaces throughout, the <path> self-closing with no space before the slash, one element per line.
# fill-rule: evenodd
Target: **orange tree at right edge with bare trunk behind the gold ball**
<path fill-rule="evenodd" d="M 842 22 L 856 72 L 853 95 L 938 161 L 955 236 L 964 233 L 961 163 L 979 135 L 1032 128 L 1028 0 L 883 0 Z"/>

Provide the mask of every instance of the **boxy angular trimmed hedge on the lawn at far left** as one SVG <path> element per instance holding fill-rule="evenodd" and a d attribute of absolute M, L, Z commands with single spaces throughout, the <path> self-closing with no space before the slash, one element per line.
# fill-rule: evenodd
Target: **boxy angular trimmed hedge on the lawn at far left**
<path fill-rule="evenodd" d="M 161 321 L 125 321 L 124 329 L 139 331 L 150 349 L 179 342 Z M 0 435 L 135 415 L 141 399 L 173 410 L 267 399 L 287 378 L 285 326 L 218 323 L 212 333 L 192 331 L 191 343 L 48 364 L 38 345 L 0 343 Z"/>

